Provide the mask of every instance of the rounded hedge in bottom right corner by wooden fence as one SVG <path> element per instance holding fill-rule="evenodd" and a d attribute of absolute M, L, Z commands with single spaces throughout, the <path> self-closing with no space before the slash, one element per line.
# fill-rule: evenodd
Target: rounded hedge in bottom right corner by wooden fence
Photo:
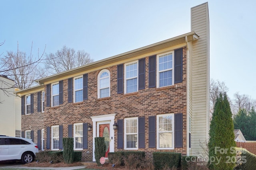
<path fill-rule="evenodd" d="M 236 147 L 236 161 L 234 170 L 254 170 L 256 155 L 246 149 Z"/>

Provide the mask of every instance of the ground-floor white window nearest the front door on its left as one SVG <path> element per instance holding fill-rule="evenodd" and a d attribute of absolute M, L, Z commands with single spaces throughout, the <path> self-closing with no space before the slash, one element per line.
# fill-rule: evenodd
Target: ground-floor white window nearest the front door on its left
<path fill-rule="evenodd" d="M 83 149 L 83 123 L 74 124 L 74 149 Z"/>

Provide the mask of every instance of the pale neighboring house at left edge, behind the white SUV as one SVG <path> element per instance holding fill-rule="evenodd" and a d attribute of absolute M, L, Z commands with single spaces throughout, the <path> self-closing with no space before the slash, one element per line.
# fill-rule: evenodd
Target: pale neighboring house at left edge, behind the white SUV
<path fill-rule="evenodd" d="M 21 136 L 21 100 L 14 94 L 15 82 L 0 75 L 0 135 Z"/>

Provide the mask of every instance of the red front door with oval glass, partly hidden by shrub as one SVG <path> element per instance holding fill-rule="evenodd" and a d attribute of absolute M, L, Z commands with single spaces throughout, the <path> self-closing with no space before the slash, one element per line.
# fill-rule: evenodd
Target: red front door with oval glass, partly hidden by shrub
<path fill-rule="evenodd" d="M 98 136 L 105 138 L 106 153 L 105 158 L 108 158 L 108 152 L 110 150 L 110 122 L 100 122 L 98 123 Z"/>

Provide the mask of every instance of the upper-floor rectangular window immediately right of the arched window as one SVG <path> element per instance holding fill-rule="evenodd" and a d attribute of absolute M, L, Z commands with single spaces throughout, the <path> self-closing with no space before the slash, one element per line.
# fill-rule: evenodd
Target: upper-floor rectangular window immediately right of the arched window
<path fill-rule="evenodd" d="M 138 61 L 125 64 L 124 92 L 138 92 Z"/>

